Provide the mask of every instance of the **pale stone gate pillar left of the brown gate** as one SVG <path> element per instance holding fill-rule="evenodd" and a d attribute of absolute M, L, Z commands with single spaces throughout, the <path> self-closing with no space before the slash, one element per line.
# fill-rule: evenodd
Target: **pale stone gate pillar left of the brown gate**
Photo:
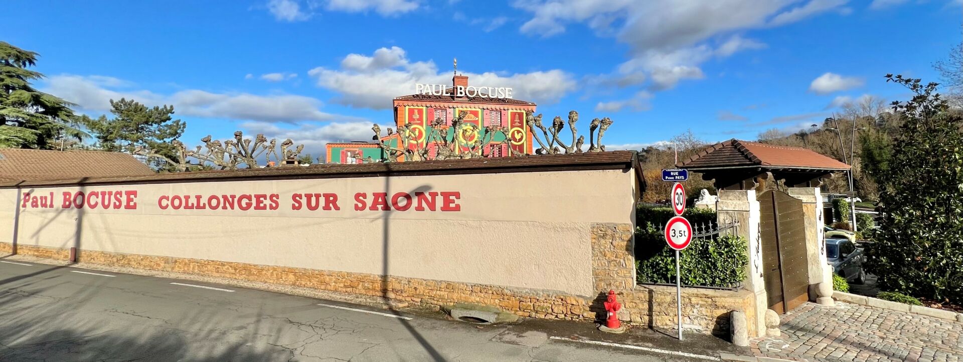
<path fill-rule="evenodd" d="M 749 265 L 746 267 L 746 288 L 756 295 L 755 315 L 746 311 L 749 335 L 762 336 L 766 331 L 768 309 L 766 283 L 763 280 L 763 254 L 759 239 L 760 208 L 756 190 L 718 190 L 716 203 L 719 224 L 739 222 L 738 233 L 748 243 Z"/>

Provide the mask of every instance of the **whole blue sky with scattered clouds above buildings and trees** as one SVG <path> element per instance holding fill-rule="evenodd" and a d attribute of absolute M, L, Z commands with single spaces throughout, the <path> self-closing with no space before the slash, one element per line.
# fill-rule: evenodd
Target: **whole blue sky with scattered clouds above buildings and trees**
<path fill-rule="evenodd" d="M 937 81 L 960 3 L 13 0 L 0 17 L 3 40 L 41 55 L 39 87 L 79 111 L 170 104 L 189 145 L 242 130 L 319 156 L 390 125 L 415 83 L 450 83 L 455 57 L 470 84 L 511 86 L 546 117 L 611 117 L 616 147 L 798 130 L 847 99 L 905 98 L 886 73 Z"/>

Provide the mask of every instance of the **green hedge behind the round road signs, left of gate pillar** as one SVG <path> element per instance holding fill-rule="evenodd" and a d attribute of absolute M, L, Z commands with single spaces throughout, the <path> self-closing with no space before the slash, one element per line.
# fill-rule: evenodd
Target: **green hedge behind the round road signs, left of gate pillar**
<path fill-rule="evenodd" d="M 675 251 L 665 244 L 665 223 L 674 216 L 667 207 L 639 207 L 636 228 L 636 269 L 639 283 L 675 283 Z M 690 224 L 716 225 L 716 211 L 687 208 Z M 692 286 L 732 287 L 745 279 L 749 263 L 745 239 L 722 235 L 692 240 L 682 256 L 682 283 Z"/>

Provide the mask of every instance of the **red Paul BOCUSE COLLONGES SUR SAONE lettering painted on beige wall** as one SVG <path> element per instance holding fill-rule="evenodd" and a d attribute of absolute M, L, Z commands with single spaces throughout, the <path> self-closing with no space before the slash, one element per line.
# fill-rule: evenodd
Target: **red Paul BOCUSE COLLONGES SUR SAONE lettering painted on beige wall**
<path fill-rule="evenodd" d="M 459 191 L 356 192 L 350 201 L 337 193 L 293 193 L 283 207 L 290 210 L 338 211 L 342 206 L 355 211 L 461 211 Z M 137 209 L 137 190 L 61 191 L 21 195 L 21 208 Z M 151 200 L 162 210 L 276 210 L 282 207 L 281 195 L 271 194 L 188 194 L 160 195 Z"/>

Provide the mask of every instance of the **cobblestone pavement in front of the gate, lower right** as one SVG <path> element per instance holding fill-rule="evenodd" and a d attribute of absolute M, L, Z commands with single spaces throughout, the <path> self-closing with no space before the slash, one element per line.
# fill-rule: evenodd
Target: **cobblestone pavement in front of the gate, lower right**
<path fill-rule="evenodd" d="M 750 342 L 757 356 L 808 361 L 963 361 L 963 323 L 836 302 L 782 316 L 782 335 Z"/>

